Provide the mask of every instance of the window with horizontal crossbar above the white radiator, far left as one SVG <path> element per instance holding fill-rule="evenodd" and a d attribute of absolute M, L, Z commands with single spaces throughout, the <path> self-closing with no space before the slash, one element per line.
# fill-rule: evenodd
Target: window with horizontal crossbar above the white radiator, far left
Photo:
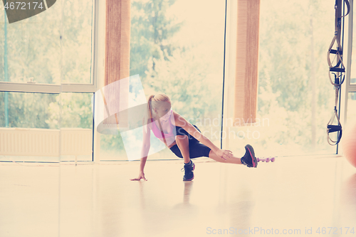
<path fill-rule="evenodd" d="M 56 1 L 14 23 L 1 7 L 0 160 L 92 160 L 94 3 Z"/>

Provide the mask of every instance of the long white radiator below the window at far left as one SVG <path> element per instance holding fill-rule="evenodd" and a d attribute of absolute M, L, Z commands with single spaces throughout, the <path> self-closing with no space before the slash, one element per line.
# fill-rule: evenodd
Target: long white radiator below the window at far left
<path fill-rule="evenodd" d="M 82 128 L 46 130 L 0 127 L 0 155 L 58 157 L 59 147 L 61 155 L 92 154 L 92 136 L 92 130 Z"/>

